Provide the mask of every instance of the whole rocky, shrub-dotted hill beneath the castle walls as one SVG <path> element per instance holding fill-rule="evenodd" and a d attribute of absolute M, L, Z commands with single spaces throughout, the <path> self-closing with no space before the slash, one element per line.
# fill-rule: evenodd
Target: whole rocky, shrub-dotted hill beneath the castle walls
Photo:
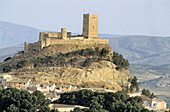
<path fill-rule="evenodd" d="M 130 85 L 129 62 L 108 44 L 51 45 L 23 51 L 0 64 L 1 72 L 29 77 L 34 83 L 56 83 L 80 87 L 121 90 Z"/>

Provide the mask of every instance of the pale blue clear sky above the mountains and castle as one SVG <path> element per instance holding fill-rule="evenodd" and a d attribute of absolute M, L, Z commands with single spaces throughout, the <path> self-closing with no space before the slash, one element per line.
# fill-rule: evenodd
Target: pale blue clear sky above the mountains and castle
<path fill-rule="evenodd" d="M 99 15 L 100 33 L 170 36 L 170 0 L 0 0 L 0 20 L 81 33 L 83 9 Z"/>

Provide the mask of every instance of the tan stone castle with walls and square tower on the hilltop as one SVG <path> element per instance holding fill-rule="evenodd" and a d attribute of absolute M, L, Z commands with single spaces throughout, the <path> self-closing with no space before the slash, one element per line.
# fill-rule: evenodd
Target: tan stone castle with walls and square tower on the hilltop
<path fill-rule="evenodd" d="M 71 32 L 67 32 L 66 28 L 61 28 L 61 32 L 40 32 L 38 42 L 24 43 L 24 52 L 56 44 L 108 44 L 108 40 L 98 38 L 98 15 L 83 14 L 82 35 L 71 35 Z"/>

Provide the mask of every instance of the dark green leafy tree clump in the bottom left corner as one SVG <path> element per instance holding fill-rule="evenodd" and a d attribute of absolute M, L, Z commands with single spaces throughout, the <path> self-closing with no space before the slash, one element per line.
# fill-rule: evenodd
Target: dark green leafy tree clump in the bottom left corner
<path fill-rule="evenodd" d="M 37 98 L 28 91 L 20 91 L 16 88 L 7 88 L 0 91 L 0 112 L 36 110 L 36 103 Z"/>

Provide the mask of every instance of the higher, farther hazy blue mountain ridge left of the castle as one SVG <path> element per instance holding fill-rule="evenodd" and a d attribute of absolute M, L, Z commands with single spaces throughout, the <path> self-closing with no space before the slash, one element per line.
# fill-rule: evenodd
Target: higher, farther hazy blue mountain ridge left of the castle
<path fill-rule="evenodd" d="M 29 26 L 0 21 L 0 48 L 37 41 L 39 31 Z"/>

